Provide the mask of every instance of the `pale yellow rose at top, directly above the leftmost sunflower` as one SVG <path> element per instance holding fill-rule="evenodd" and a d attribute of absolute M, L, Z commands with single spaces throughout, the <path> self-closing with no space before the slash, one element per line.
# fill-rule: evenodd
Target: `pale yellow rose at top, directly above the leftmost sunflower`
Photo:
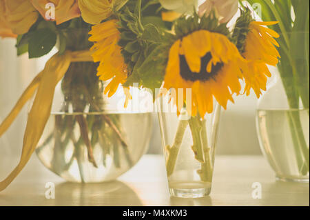
<path fill-rule="evenodd" d="M 97 24 L 112 15 L 114 6 L 125 0 L 78 0 L 85 22 Z"/>

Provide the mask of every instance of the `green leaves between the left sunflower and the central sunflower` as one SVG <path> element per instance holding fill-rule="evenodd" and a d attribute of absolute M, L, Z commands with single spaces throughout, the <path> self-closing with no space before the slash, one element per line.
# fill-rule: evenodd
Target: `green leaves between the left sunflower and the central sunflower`
<path fill-rule="evenodd" d="M 160 46 L 163 45 L 166 23 L 153 16 L 156 14 L 158 1 L 138 1 L 134 5 L 131 3 L 132 1 L 118 13 L 118 25 L 121 27 L 118 29 L 121 32 L 118 45 L 123 48 L 122 54 L 129 71 L 124 86 L 138 83 L 139 87 L 155 90 L 161 87 L 165 73 L 165 59 L 159 56 L 159 52 L 162 50 Z M 144 19 L 143 14 L 149 8 L 152 8 L 153 14 Z"/>

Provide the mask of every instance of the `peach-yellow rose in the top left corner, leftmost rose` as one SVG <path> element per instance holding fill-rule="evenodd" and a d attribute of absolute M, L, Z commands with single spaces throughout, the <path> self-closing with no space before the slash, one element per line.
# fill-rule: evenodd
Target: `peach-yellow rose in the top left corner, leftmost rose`
<path fill-rule="evenodd" d="M 37 21 L 39 13 L 30 0 L 2 0 L 6 8 L 6 21 L 14 34 L 25 34 Z"/>

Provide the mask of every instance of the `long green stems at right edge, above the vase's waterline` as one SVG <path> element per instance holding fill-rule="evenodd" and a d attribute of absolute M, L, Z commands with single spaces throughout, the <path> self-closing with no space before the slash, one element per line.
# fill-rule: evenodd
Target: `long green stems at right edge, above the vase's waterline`
<path fill-rule="evenodd" d="M 299 97 L 304 108 L 309 108 L 309 1 L 307 0 L 248 0 L 260 3 L 263 21 L 279 21 L 269 28 L 280 34 L 277 39 L 281 59 L 278 64 L 289 105 L 299 108 Z M 291 9 L 295 20 L 291 17 Z M 293 84 L 293 87 L 292 87 Z"/>

